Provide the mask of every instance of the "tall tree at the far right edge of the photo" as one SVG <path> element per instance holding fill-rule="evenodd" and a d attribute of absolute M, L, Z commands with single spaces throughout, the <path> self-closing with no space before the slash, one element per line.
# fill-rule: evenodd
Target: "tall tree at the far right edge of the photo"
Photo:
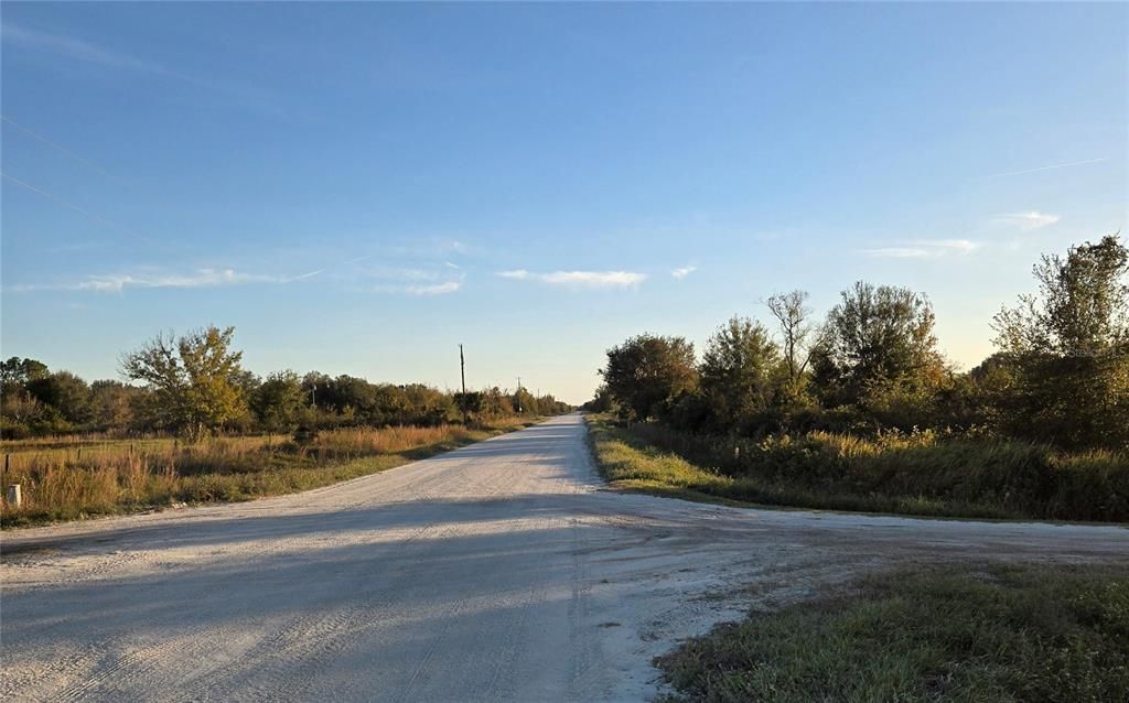
<path fill-rule="evenodd" d="M 1067 447 L 1129 446 L 1129 249 L 1117 236 L 1044 255 L 1039 292 L 996 316 L 1015 369 L 1009 429 Z"/>

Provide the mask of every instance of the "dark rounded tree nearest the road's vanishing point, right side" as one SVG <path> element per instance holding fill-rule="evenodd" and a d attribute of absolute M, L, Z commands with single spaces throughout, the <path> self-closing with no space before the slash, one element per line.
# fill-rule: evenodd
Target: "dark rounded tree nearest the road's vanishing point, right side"
<path fill-rule="evenodd" d="M 684 337 L 641 334 L 607 350 L 601 371 L 609 393 L 629 418 L 660 414 L 682 393 L 698 385 L 694 345 Z"/>

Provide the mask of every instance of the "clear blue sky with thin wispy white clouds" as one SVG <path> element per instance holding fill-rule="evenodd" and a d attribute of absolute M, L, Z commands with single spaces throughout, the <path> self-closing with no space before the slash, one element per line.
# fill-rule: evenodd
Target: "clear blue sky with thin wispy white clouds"
<path fill-rule="evenodd" d="M 1129 6 L 2 6 L 2 354 L 589 397 L 778 290 L 930 296 L 946 354 L 1126 228 Z"/>

